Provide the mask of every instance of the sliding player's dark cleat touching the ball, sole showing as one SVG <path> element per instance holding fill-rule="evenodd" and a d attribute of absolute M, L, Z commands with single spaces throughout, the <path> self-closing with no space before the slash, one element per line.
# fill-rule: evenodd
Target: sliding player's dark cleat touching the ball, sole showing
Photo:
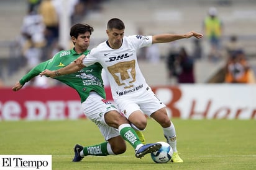
<path fill-rule="evenodd" d="M 145 144 L 139 148 L 139 150 L 135 150 L 136 158 L 142 158 L 148 153 L 152 153 L 154 151 L 158 151 L 162 145 L 160 143 L 149 143 Z"/>

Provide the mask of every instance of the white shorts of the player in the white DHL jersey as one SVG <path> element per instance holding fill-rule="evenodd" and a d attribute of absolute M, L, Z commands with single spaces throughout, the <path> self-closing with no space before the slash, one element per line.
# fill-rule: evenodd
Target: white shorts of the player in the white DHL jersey
<path fill-rule="evenodd" d="M 158 109 L 165 107 L 165 104 L 157 98 L 151 88 L 147 88 L 144 93 L 137 96 L 132 94 L 119 96 L 115 103 L 127 119 L 134 111 L 140 110 L 150 116 Z"/>

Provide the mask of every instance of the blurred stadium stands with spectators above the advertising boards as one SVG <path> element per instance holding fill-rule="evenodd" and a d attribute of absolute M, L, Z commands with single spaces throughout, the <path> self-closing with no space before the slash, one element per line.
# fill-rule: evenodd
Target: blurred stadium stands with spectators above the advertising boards
<path fill-rule="evenodd" d="M 119 17 L 126 35 L 204 33 L 203 40 L 179 40 L 139 51 L 150 85 L 177 83 L 255 83 L 256 1 L 238 0 L 68 0 L 70 24 L 93 25 L 91 48 L 106 40 L 106 22 Z M 0 87 L 10 87 L 60 46 L 63 0 L 0 2 Z M 211 28 L 214 27 L 214 28 Z M 71 44 L 70 44 L 71 46 Z M 155 68 L 152 70 L 152 68 Z M 50 87 L 42 77 L 30 85 Z"/>

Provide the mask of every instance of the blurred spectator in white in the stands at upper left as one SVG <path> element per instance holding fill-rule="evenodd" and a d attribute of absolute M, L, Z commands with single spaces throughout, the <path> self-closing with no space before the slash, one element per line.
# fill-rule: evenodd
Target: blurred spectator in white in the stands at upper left
<path fill-rule="evenodd" d="M 40 62 L 42 48 L 46 42 L 43 35 L 44 29 L 42 15 L 29 9 L 22 21 L 21 36 L 17 38 L 11 51 L 12 57 L 16 56 L 19 59 L 10 62 L 10 69 L 17 70 L 14 67 L 24 66 L 24 64 L 34 67 Z"/>

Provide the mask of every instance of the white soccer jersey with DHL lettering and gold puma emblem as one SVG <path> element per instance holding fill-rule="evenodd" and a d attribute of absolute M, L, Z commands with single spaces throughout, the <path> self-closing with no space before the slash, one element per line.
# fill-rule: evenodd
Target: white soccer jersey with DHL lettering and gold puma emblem
<path fill-rule="evenodd" d="M 145 82 L 137 61 L 137 49 L 152 45 L 152 36 L 124 36 L 122 46 L 112 49 L 107 41 L 99 44 L 83 59 L 89 66 L 99 62 L 106 70 L 114 99 L 119 96 L 140 96 L 149 86 Z"/>

